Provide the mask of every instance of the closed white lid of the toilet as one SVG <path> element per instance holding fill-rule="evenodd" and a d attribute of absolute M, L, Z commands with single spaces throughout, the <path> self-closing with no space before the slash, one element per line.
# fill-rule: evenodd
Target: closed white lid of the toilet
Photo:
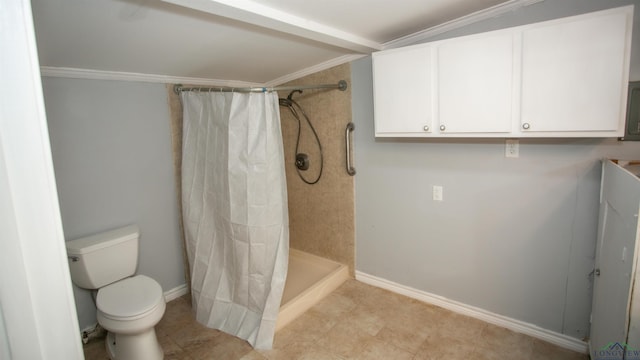
<path fill-rule="evenodd" d="M 136 275 L 100 288 L 96 306 L 107 315 L 132 317 L 152 310 L 160 301 L 164 301 L 160 284 Z"/>

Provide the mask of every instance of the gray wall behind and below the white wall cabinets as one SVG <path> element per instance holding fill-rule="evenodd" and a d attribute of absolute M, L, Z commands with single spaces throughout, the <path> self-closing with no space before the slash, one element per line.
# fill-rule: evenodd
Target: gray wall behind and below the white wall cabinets
<path fill-rule="evenodd" d="M 447 38 L 640 1 L 547 0 Z M 433 38 L 435 40 L 436 38 Z M 635 40 L 631 76 L 640 80 Z M 589 331 L 601 158 L 615 139 L 375 139 L 371 59 L 352 64 L 356 270 L 576 338 Z M 444 202 L 431 200 L 433 185 Z"/>

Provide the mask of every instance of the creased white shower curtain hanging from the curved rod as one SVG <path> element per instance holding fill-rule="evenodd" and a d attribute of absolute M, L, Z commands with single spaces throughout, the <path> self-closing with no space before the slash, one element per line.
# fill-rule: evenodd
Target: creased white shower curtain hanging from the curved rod
<path fill-rule="evenodd" d="M 289 219 L 278 96 L 183 92 L 182 207 L 196 319 L 270 349 Z"/>

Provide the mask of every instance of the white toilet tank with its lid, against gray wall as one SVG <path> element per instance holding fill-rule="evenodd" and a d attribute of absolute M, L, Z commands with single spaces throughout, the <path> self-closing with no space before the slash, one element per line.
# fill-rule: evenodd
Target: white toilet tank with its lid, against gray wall
<path fill-rule="evenodd" d="M 66 242 L 71 280 L 99 289 L 135 274 L 140 229 L 129 225 Z"/>

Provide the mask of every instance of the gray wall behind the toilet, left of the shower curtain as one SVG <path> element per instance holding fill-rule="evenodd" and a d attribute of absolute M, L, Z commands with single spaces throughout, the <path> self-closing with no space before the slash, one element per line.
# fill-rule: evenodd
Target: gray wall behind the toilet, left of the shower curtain
<path fill-rule="evenodd" d="M 138 273 L 184 284 L 164 85 L 45 77 L 43 89 L 65 238 L 138 224 Z M 74 294 L 85 329 L 95 306 Z"/>

